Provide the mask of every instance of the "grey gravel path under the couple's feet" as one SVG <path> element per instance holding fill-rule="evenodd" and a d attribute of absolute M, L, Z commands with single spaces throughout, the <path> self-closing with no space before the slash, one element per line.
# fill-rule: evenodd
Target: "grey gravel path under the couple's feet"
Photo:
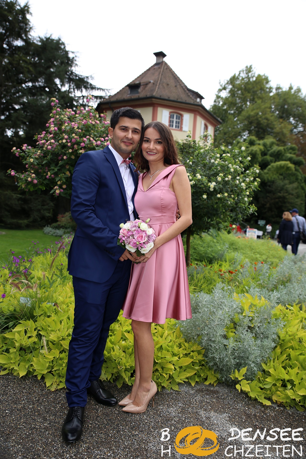
<path fill-rule="evenodd" d="M 106 386 L 119 399 L 128 394 L 128 386 L 120 389 L 109 383 Z M 89 397 L 82 438 L 78 443 L 66 445 L 61 439 L 61 424 L 67 412 L 65 392 L 46 390 L 36 377 L 0 376 L 0 458 L 155 459 L 161 457 L 161 446 L 168 450 L 171 445 L 171 458 L 192 459 L 197 456 L 177 453 L 174 441 L 181 429 L 196 425 L 218 435 L 220 447 L 211 455 L 213 459 L 225 458 L 225 450 L 231 444 L 236 445 L 237 450 L 244 446 L 244 457 L 249 449 L 245 445 L 268 444 L 268 454 L 272 458 L 277 457 L 277 450 L 278 457 L 299 458 L 295 451 L 291 454 L 291 445 L 294 444 L 298 451 L 302 445 L 302 457 L 306 457 L 306 434 L 303 432 L 304 441 L 293 442 L 291 438 L 287 441 L 280 438 L 275 442 L 267 440 L 268 431 L 275 427 L 306 428 L 303 412 L 287 410 L 274 403 L 263 406 L 234 387 L 223 384 L 216 387 L 181 384 L 180 389 L 181 392 L 158 392 L 154 408 L 150 404 L 143 414 L 122 413 L 118 405 L 107 408 Z M 262 432 L 267 428 L 267 433 L 264 440 L 257 437 L 255 441 L 242 442 L 239 438 L 228 442 L 230 429 L 234 427 L 240 431 L 252 428 L 250 437 L 257 429 Z M 161 430 L 164 428 L 169 429 L 170 439 L 162 442 Z M 203 446 L 211 444 L 206 439 Z M 284 445 L 289 446 L 283 451 Z M 268 457 L 267 448 L 263 452 L 261 449 L 258 448 L 257 457 Z M 229 448 L 227 453 L 233 451 Z M 252 454 L 256 457 L 255 446 L 246 457 L 252 457 Z M 163 457 L 168 458 L 169 453 L 164 452 Z M 237 452 L 236 457 L 242 457 L 242 453 Z"/>

